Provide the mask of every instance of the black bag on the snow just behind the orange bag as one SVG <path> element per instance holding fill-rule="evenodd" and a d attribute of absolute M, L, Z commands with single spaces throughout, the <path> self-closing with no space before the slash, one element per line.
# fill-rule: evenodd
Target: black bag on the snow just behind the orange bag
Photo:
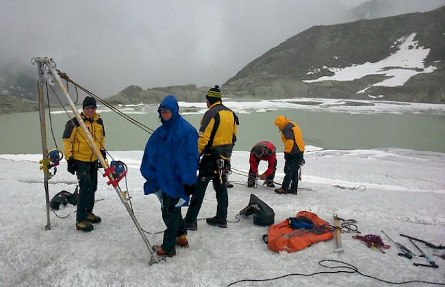
<path fill-rule="evenodd" d="M 269 226 L 275 221 L 275 213 L 272 208 L 253 194 L 251 194 L 249 205 L 243 208 L 240 214 L 253 215 L 253 224 L 259 226 Z"/>

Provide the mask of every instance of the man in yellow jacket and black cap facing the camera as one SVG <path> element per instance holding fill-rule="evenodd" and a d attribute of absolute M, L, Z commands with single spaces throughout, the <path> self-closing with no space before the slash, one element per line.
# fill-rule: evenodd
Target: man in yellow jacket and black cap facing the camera
<path fill-rule="evenodd" d="M 105 158 L 105 129 L 102 118 L 96 114 L 96 100 L 93 97 L 86 97 L 82 103 L 82 108 L 81 117 L 92 134 L 94 145 Z M 64 144 L 64 155 L 68 163 L 68 172 L 73 175 L 76 173 L 79 182 L 76 229 L 90 232 L 94 229 L 91 223 L 102 221 L 99 216 L 92 213 L 94 192 L 97 190 L 97 156 L 94 155 L 77 118 L 71 118 L 66 123 L 62 142 Z"/>

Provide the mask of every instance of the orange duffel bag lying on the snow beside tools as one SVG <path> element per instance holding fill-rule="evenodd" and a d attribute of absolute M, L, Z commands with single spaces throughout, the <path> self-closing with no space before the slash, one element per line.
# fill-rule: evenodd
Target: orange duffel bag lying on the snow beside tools
<path fill-rule="evenodd" d="M 292 228 L 290 219 L 271 225 L 267 236 L 263 236 L 270 250 L 279 252 L 295 252 L 312 245 L 312 243 L 333 238 L 333 232 L 329 223 L 318 217 L 317 214 L 301 211 L 296 214 L 296 219 L 304 219 L 312 222 L 311 229 Z M 309 220 L 309 221 L 308 221 Z"/>

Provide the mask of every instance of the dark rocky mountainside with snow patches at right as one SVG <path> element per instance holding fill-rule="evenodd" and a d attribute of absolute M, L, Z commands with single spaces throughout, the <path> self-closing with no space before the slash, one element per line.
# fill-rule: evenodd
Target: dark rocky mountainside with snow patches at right
<path fill-rule="evenodd" d="M 445 103 L 445 7 L 426 13 L 405 14 L 307 29 L 247 64 L 223 89 L 236 95 L 259 98 L 332 97 Z M 406 42 L 411 40 L 411 44 Z M 405 42 L 404 42 L 405 41 Z M 403 48 L 403 45 L 408 45 Z M 424 58 L 414 66 L 398 59 L 401 73 L 421 72 L 402 86 L 379 86 L 391 75 L 370 73 L 351 80 L 338 80 L 335 73 L 385 59 L 409 50 L 421 50 Z M 412 51 L 411 51 L 412 52 Z M 416 54 L 417 55 L 417 54 Z M 406 59 L 410 61 L 410 57 Z M 394 58 L 394 56 L 392 56 Z M 412 57 L 411 57 L 412 58 Z M 377 70 L 378 71 L 378 70 Z M 388 73 L 389 74 L 389 73 Z M 324 81 L 311 80 L 326 78 Z M 308 81 L 308 82 L 303 82 Z M 375 85 L 375 86 L 373 86 Z M 367 88 L 367 89 L 366 89 Z M 366 89 L 366 92 L 357 93 Z"/>

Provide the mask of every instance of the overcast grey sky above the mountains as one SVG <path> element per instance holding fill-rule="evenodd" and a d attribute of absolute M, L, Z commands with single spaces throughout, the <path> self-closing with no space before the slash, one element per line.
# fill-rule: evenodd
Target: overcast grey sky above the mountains
<path fill-rule="evenodd" d="M 365 0 L 0 0 L 0 66 L 34 56 L 99 96 L 223 84 L 272 47 L 312 27 L 351 21 Z"/>

